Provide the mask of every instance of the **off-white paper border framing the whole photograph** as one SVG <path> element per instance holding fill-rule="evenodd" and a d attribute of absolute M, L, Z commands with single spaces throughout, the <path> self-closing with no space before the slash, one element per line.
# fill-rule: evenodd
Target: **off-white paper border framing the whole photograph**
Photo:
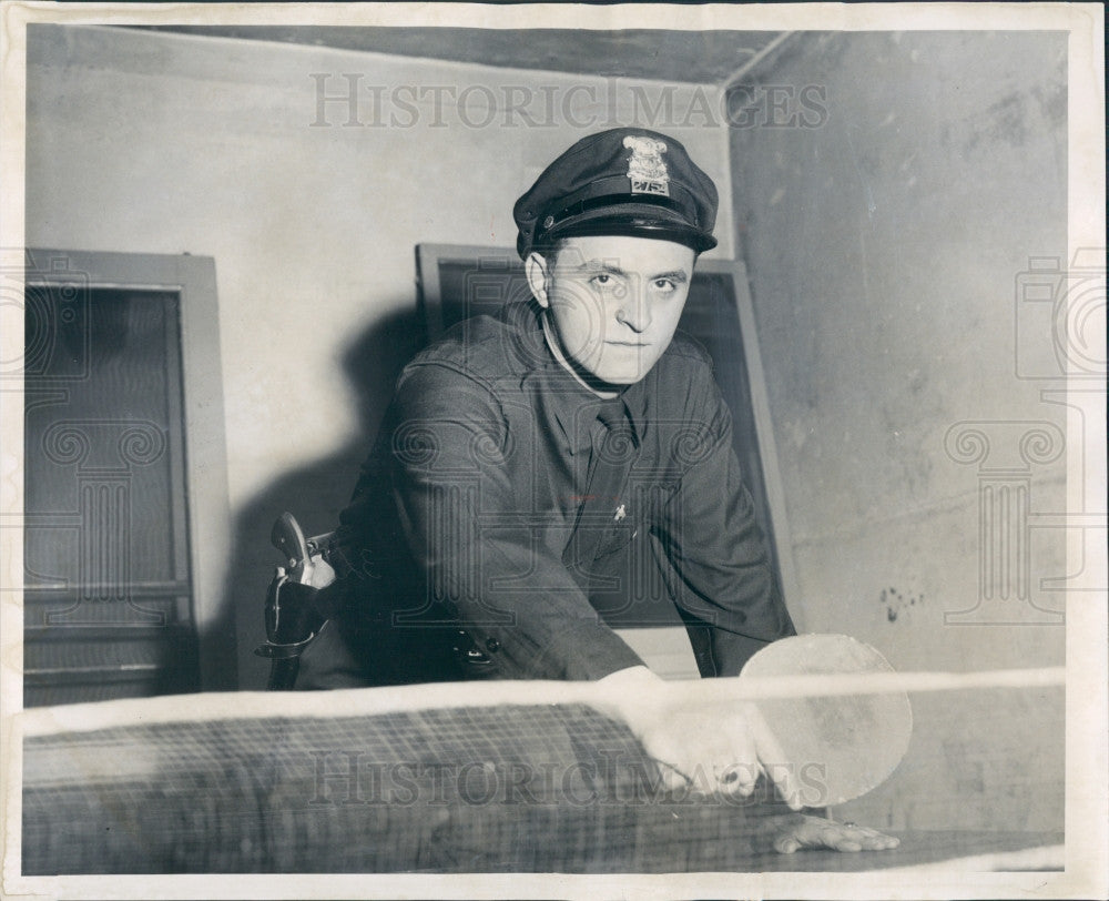
<path fill-rule="evenodd" d="M 1071 251 L 1105 246 L 1105 129 L 1103 129 L 1103 8 L 1099 3 L 898 3 L 898 4 L 710 4 L 681 7 L 683 28 L 742 30 L 1066 30 L 1069 37 L 1069 242 Z M 31 22 L 67 23 L 193 23 L 193 24 L 326 24 L 344 26 L 467 26 L 482 28 L 572 27 L 583 29 L 672 28 L 673 8 L 664 4 L 582 7 L 569 4 L 53 4 L 2 6 L 2 128 L 0 165 L 3 198 L 0 205 L 0 247 L 23 244 L 24 60 L 26 27 Z M 21 332 L 21 330 L 19 330 Z M 19 332 L 0 334 L 0 355 L 18 357 Z M 1092 477 L 1068 486 L 1069 510 L 1098 510 L 1105 498 L 1105 394 L 1071 392 L 1068 445 L 1086 454 L 1086 472 Z M 2 495 L 0 512 L 21 508 L 21 467 L 11 448 L 22 446 L 22 398 L 18 393 L 0 395 L 3 416 Z M 1085 422 L 1082 422 L 1085 419 Z M 1093 434 L 1082 433 L 1082 427 Z M 1083 446 L 1085 442 L 1085 446 Z M 1077 447 L 1076 447 L 1077 445 Z M 1075 458 L 1071 458 L 1074 462 Z M 1080 465 L 1080 460 L 1078 463 Z M 1074 472 L 1074 470 L 1070 470 Z M 1100 480 L 1099 480 L 1100 477 Z M 3 717 L 3 751 L 9 763 L 6 782 L 4 827 L 19 822 L 19 749 L 11 716 L 19 707 L 18 679 L 22 655 L 21 611 L 18 586 L 22 557 L 18 535 L 0 530 L 0 578 L 4 583 L 0 610 L 3 636 L 4 691 L 0 695 Z M 1075 554 L 1081 548 L 1076 548 Z M 1071 560 L 1099 568 L 1093 578 L 1105 584 L 1105 558 Z M 1074 569 L 1074 567 L 1071 567 Z M 1067 844 L 1064 873 L 968 873 L 953 864 L 949 871 L 914 868 L 912 872 L 866 874 L 766 873 L 682 874 L 672 877 L 14 877 L 6 854 L 3 894 L 99 898 L 319 898 L 346 897 L 598 897 L 675 898 L 715 894 L 787 895 L 793 898 L 1037 898 L 1106 897 L 1109 893 L 1109 793 L 1106 773 L 1107 685 L 1105 637 L 1107 610 L 1103 596 L 1075 599 L 1068 605 L 1067 622 Z M 17 694 L 11 692 L 16 685 Z M 238 705 L 234 697 L 228 705 Z"/>

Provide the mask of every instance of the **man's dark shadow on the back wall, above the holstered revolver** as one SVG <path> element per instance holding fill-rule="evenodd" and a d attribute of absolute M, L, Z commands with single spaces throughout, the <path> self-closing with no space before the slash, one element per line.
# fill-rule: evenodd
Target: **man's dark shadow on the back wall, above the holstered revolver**
<path fill-rule="evenodd" d="M 205 690 L 265 688 L 269 664 L 251 651 L 265 640 L 266 586 L 281 563 L 269 544 L 274 520 L 288 510 L 307 536 L 338 525 L 339 512 L 350 499 L 397 376 L 424 343 L 424 326 L 410 302 L 408 310 L 381 317 L 359 335 L 343 358 L 358 403 L 356 437 L 330 456 L 281 476 L 238 513 L 220 614 L 200 636 Z M 289 433 L 289 441 L 296 441 L 295 432 Z"/>

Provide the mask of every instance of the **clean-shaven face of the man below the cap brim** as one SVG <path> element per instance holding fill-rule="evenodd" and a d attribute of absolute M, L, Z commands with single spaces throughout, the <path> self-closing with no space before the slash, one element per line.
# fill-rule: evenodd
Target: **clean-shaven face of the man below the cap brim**
<path fill-rule="evenodd" d="M 639 382 L 670 345 L 693 277 L 693 250 L 615 235 L 568 237 L 532 254 L 532 291 L 568 362 L 603 385 Z"/>

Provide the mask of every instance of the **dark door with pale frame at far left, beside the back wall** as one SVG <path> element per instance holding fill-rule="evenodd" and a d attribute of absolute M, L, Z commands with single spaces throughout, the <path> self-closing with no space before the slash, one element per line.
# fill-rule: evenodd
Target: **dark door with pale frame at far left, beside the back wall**
<path fill-rule="evenodd" d="M 153 264 L 145 274 L 144 262 Z M 194 377 L 196 391 L 189 392 L 184 305 L 200 301 L 195 279 L 186 290 L 187 279 L 165 277 L 166 264 L 165 257 L 116 254 L 34 251 L 29 257 L 23 288 L 28 707 L 202 686 L 204 611 L 197 587 L 204 579 L 197 576 L 204 574 L 197 573 L 193 544 L 197 514 L 205 522 L 211 512 L 204 493 L 201 509 L 194 509 L 191 489 L 200 478 L 223 474 L 202 476 L 199 460 L 190 467 L 197 434 L 190 432 L 189 402 L 195 407 L 195 394 L 213 386 L 205 392 L 208 374 L 200 386 Z M 210 260 L 200 259 L 177 269 L 195 272 L 197 265 L 212 270 Z M 190 317 L 195 315 L 191 310 Z M 189 356 L 195 360 L 200 352 L 211 363 L 213 351 L 217 373 L 217 344 L 192 347 Z M 190 368 L 195 375 L 195 363 Z M 222 435 L 220 418 L 204 428 Z M 203 460 L 205 454 L 199 456 Z"/>

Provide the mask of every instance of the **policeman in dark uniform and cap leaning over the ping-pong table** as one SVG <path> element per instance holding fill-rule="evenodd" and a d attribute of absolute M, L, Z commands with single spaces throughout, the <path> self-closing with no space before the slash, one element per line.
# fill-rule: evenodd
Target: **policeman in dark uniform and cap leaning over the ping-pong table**
<path fill-rule="evenodd" d="M 298 688 L 599 680 L 675 786 L 696 770 L 746 794 L 782 762 L 756 711 L 685 710 L 598 613 L 664 587 L 703 676 L 794 634 L 709 358 L 675 333 L 716 204 L 685 149 L 642 129 L 583 138 L 517 201 L 532 296 L 401 373 Z M 771 776 L 796 807 L 787 768 Z M 856 831 L 812 843 L 892 847 Z"/>

